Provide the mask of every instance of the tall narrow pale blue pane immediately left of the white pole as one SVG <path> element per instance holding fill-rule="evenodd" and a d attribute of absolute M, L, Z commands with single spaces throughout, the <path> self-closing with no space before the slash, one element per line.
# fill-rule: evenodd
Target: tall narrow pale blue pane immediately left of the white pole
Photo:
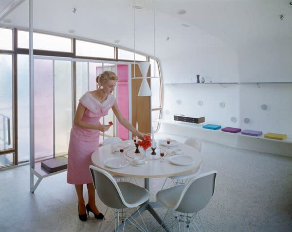
<path fill-rule="evenodd" d="M 18 54 L 18 162 L 29 160 L 29 56 Z"/>

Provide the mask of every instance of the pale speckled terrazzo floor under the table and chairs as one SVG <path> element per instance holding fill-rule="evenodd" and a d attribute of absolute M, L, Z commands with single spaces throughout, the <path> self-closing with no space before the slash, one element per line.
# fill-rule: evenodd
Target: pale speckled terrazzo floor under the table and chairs
<path fill-rule="evenodd" d="M 200 212 L 205 231 L 292 231 L 292 158 L 207 142 L 203 143 L 203 157 L 201 173 L 218 172 L 215 194 Z M 137 181 L 144 185 L 143 179 Z M 164 178 L 150 179 L 151 201 L 163 182 Z M 166 187 L 171 184 L 168 180 Z M 86 194 L 84 190 L 87 202 Z M 103 203 L 96 200 L 105 212 Z M 67 184 L 66 172 L 44 178 L 35 194 L 29 192 L 28 165 L 0 172 L 0 232 L 98 231 L 100 220 L 91 214 L 81 222 L 77 212 L 74 186 Z M 164 216 L 166 210 L 157 212 Z M 142 215 L 149 232 L 159 229 L 148 212 Z M 171 220 L 173 215 L 166 223 Z M 127 226 L 125 231 L 137 230 Z"/>

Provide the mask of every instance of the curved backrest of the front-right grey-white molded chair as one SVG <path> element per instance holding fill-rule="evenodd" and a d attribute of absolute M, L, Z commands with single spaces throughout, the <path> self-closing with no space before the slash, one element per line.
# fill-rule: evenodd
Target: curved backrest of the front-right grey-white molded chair
<path fill-rule="evenodd" d="M 217 172 L 212 171 L 191 179 L 186 185 L 175 209 L 182 213 L 196 213 L 210 201 L 215 191 Z"/>

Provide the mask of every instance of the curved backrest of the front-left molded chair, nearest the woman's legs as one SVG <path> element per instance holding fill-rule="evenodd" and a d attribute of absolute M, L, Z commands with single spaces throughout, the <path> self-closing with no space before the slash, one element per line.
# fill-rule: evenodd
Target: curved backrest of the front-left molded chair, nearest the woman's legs
<path fill-rule="evenodd" d="M 110 173 L 93 165 L 90 165 L 89 169 L 94 188 L 101 201 L 110 208 L 127 208 L 121 190 Z"/>

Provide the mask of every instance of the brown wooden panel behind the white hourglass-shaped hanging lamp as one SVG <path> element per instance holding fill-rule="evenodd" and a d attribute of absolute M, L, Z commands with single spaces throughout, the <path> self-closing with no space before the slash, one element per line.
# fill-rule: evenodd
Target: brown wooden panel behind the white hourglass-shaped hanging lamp
<path fill-rule="evenodd" d="M 134 65 L 132 65 L 131 76 L 134 77 Z M 136 64 L 136 77 L 142 77 L 141 71 Z M 150 69 L 148 70 L 147 76 L 150 76 Z M 150 79 L 147 79 L 150 86 Z M 134 80 L 132 79 L 132 125 L 136 127 L 136 122 L 138 122 L 138 130 L 143 133 L 151 132 L 151 106 L 150 97 L 139 97 L 138 92 L 142 83 L 142 79 Z"/>

